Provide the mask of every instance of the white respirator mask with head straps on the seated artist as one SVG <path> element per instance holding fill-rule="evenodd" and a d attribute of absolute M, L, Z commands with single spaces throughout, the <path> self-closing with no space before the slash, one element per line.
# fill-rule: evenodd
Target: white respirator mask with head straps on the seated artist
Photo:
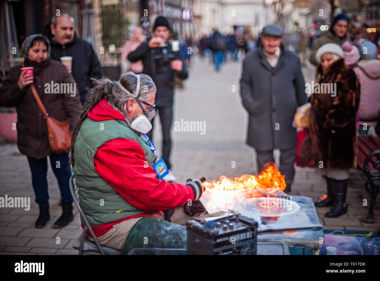
<path fill-rule="evenodd" d="M 143 114 L 139 114 L 135 118 L 133 118 L 133 120 L 130 122 L 130 127 L 134 129 L 135 131 L 138 131 L 139 133 L 146 134 L 152 129 L 152 124 L 150 123 L 150 121 L 152 121 L 156 112 L 154 110 L 154 105 L 152 106 L 151 104 L 145 103 L 144 101 L 140 101 L 137 98 L 139 90 L 140 90 L 140 75 L 136 74 L 136 76 L 137 76 L 137 87 L 136 87 L 136 92 L 133 94 L 129 92 L 126 88 L 124 88 L 123 85 L 120 83 L 120 81 L 117 81 L 117 85 L 129 96 L 135 98 L 137 104 L 139 105 L 139 107 L 141 108 L 143 112 Z M 144 107 L 142 107 L 141 102 L 151 106 L 150 110 L 147 111 Z M 127 107 L 127 104 L 125 105 L 125 107 Z M 125 112 L 127 112 L 126 108 L 124 108 L 124 110 Z"/>

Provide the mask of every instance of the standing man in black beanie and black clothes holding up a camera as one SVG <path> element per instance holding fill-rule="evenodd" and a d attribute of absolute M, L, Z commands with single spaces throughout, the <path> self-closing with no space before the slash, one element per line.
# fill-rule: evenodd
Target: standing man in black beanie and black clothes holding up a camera
<path fill-rule="evenodd" d="M 171 172 L 169 161 L 171 150 L 170 129 L 173 121 L 174 74 L 177 74 L 181 79 L 186 79 L 188 74 L 179 49 L 176 46 L 172 49 L 172 45 L 167 41 L 170 35 L 170 26 L 166 17 L 157 17 L 154 22 L 153 33 L 154 37 L 128 54 L 128 60 L 131 62 L 141 60 L 144 66 L 142 73 L 152 77 L 156 84 L 155 110 L 160 115 L 162 125 L 162 158 L 169 170 L 169 174 L 163 180 L 174 182 L 176 178 Z M 153 128 L 147 133 L 147 136 L 151 139 L 152 134 Z"/>

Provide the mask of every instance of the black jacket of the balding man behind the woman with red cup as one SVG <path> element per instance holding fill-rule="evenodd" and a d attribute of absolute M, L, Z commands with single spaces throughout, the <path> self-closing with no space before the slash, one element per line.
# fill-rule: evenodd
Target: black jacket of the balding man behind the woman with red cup
<path fill-rule="evenodd" d="M 78 84 L 81 103 L 84 104 L 89 90 L 92 88 L 90 77 L 100 79 L 103 76 L 103 71 L 97 55 L 92 49 L 92 45 L 81 38 L 74 36 L 73 41 L 64 45 L 54 41 L 51 33 L 47 35 L 51 46 L 51 59 L 58 60 L 60 57 L 73 57 L 71 66 L 71 74 Z"/>

